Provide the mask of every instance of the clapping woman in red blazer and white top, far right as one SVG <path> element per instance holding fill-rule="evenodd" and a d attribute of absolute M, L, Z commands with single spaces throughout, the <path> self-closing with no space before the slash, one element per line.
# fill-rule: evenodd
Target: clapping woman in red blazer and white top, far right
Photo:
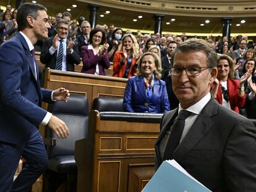
<path fill-rule="evenodd" d="M 244 83 L 249 78 L 245 73 L 240 81 L 234 79 L 234 62 L 231 57 L 221 55 L 218 58 L 218 75 L 211 86 L 211 94 L 224 107 L 239 113 L 239 107 L 245 104 Z"/>

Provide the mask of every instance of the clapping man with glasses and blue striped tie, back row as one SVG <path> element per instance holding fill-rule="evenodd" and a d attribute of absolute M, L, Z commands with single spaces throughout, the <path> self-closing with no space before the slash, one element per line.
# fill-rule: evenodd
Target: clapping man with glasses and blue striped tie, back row
<path fill-rule="evenodd" d="M 45 40 L 40 55 L 40 61 L 50 69 L 74 72 L 74 64 L 80 64 L 77 44 L 67 39 L 69 22 L 59 20 L 57 35 Z"/>

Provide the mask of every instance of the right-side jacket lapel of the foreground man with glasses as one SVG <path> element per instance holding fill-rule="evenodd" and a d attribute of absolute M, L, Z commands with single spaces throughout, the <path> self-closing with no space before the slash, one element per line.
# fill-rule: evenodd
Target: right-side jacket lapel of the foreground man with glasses
<path fill-rule="evenodd" d="M 187 152 L 193 149 L 194 146 L 202 140 L 213 126 L 211 117 L 217 114 L 218 106 L 219 104 L 217 104 L 214 98 L 211 98 L 208 104 L 203 108 L 202 112 L 198 115 L 197 120 L 195 120 L 181 144 L 179 144 L 174 151 L 172 159 L 176 159 L 177 161 L 184 159 Z"/>

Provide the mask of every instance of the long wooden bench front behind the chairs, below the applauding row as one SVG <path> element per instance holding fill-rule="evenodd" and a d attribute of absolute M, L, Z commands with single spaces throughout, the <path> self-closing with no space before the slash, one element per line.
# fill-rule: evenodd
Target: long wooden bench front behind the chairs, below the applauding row
<path fill-rule="evenodd" d="M 90 75 L 77 72 L 62 72 L 47 69 L 45 73 L 45 88 L 67 88 L 70 93 L 85 94 L 88 98 L 89 110 L 93 99 L 108 96 L 122 98 L 127 79 Z M 45 106 L 46 107 L 46 106 Z"/>

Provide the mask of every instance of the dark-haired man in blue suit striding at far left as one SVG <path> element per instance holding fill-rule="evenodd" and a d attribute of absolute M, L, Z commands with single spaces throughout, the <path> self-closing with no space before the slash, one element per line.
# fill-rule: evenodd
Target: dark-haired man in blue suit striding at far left
<path fill-rule="evenodd" d="M 48 15 L 40 4 L 25 3 L 17 12 L 19 33 L 0 47 L 0 191 L 28 191 L 48 166 L 40 124 L 59 138 L 69 129 L 62 120 L 42 109 L 41 102 L 67 101 L 69 91 L 44 90 L 38 80 L 33 44 L 48 37 Z M 26 165 L 14 180 L 20 156 Z"/>

